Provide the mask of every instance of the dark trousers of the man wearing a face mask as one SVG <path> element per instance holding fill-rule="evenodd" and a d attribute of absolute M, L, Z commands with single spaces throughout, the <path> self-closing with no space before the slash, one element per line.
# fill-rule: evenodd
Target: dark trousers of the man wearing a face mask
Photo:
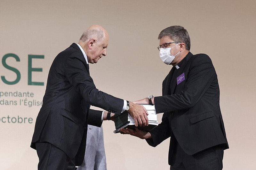
<path fill-rule="evenodd" d="M 223 153 L 223 147 L 218 145 L 194 155 L 188 155 L 177 144 L 170 170 L 221 170 Z"/>

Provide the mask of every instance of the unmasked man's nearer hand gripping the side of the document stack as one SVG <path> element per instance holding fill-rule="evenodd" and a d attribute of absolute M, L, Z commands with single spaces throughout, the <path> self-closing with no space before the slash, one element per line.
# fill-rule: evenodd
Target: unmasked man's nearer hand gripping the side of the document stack
<path fill-rule="evenodd" d="M 130 108 L 128 113 L 133 117 L 135 126 L 148 126 L 148 112 L 147 109 L 141 105 L 129 102 Z"/>

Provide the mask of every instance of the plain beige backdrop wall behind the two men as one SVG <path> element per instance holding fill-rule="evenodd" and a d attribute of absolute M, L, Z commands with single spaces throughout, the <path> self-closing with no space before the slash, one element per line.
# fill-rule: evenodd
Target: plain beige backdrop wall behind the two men
<path fill-rule="evenodd" d="M 0 0 L 0 58 L 18 55 L 20 62 L 9 57 L 6 63 L 21 74 L 15 85 L 0 79 L 0 92 L 34 93 L 33 97 L 0 98 L 18 101 L 17 105 L 0 105 L 1 120 L 5 117 L 5 122 L 0 121 L 1 169 L 36 169 L 36 151 L 29 145 L 40 106 L 29 107 L 24 101 L 42 101 L 52 60 L 78 42 L 92 24 L 103 26 L 110 36 L 107 56 L 90 65 L 96 87 L 132 101 L 161 95 L 162 81 L 172 66 L 159 59 L 157 36 L 168 26 L 184 26 L 190 34 L 191 52 L 208 54 L 218 74 L 230 146 L 224 152 L 223 169 L 255 169 L 255 7 L 254 0 Z M 44 55 L 44 59 L 32 59 L 33 68 L 43 69 L 32 73 L 32 81 L 44 82 L 44 86 L 28 85 L 28 55 Z M 16 79 L 3 62 L 0 76 Z M 18 116 L 33 121 L 17 123 Z M 113 122 L 104 122 L 103 127 L 109 170 L 169 169 L 169 139 L 153 148 L 144 140 L 114 134 Z"/>

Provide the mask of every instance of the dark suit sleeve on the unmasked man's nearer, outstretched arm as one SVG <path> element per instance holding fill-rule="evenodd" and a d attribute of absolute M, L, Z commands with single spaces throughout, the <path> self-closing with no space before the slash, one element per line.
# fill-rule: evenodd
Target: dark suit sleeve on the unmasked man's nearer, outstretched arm
<path fill-rule="evenodd" d="M 105 92 L 99 91 L 84 65 L 84 58 L 80 58 L 80 53 L 74 52 L 69 57 L 65 74 L 68 81 L 81 93 L 84 100 L 92 106 L 100 107 L 116 114 L 121 114 L 124 106 L 124 100 L 111 96 Z"/>

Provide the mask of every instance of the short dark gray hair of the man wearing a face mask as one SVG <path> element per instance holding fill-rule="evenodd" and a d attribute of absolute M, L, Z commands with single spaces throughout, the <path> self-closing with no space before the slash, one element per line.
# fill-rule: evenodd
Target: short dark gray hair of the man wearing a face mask
<path fill-rule="evenodd" d="M 190 50 L 190 38 L 188 31 L 183 26 L 170 26 L 163 29 L 158 35 L 158 40 L 165 36 L 170 37 L 173 41 L 185 43 L 186 49 L 188 51 Z"/>

